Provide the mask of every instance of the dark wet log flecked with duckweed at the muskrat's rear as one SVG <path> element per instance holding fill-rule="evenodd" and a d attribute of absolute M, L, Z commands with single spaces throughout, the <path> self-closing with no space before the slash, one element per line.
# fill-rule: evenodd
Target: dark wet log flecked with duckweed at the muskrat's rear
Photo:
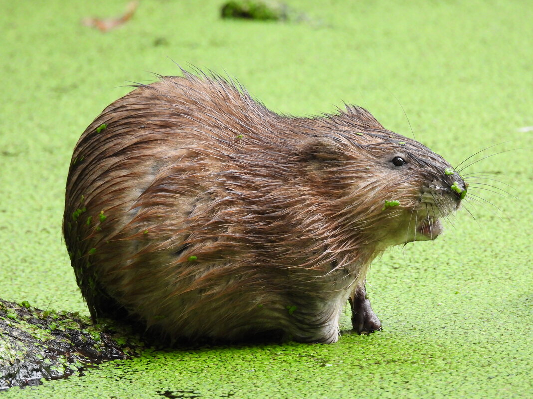
<path fill-rule="evenodd" d="M 0 390 L 68 377 L 143 350 L 139 335 L 114 321 L 95 324 L 79 313 L 0 300 Z"/>

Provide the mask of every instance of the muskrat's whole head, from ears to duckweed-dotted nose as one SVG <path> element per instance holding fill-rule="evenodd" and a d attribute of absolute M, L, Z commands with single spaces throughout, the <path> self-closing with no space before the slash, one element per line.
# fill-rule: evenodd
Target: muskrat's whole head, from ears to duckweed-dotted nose
<path fill-rule="evenodd" d="M 466 195 L 461 176 L 441 156 L 385 129 L 361 107 L 349 106 L 328 118 L 335 128 L 326 135 L 322 158 L 329 153 L 335 159 L 337 152 L 340 160 L 344 151 L 330 176 L 337 170 L 350 191 L 345 209 L 353 215 L 352 227 L 378 248 L 435 239 L 442 232 L 441 219 Z"/>

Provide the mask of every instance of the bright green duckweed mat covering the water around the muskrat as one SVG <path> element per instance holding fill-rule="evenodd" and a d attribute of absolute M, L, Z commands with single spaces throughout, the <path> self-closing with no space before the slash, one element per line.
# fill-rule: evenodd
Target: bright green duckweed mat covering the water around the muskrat
<path fill-rule="evenodd" d="M 120 15 L 126 2 L 0 1 L 0 297 L 87 313 L 61 238 L 71 152 L 127 81 L 179 74 L 171 60 L 235 76 L 274 111 L 356 103 L 410 136 L 403 107 L 416 139 L 453 165 L 495 144 L 474 160 L 518 149 L 468 169 L 496 186 L 472 190 L 490 204 L 472 197 L 434 242 L 374 262 L 381 332 L 344 332 L 333 345 L 152 351 L 0 396 L 533 396 L 533 4 L 288 5 L 300 16 L 267 22 L 222 20 L 214 0 L 143 0 L 102 32 L 82 21 Z"/>

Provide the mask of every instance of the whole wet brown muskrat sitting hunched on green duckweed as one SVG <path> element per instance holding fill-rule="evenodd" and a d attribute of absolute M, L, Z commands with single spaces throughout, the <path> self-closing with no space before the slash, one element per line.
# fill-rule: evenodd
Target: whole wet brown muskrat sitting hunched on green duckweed
<path fill-rule="evenodd" d="M 368 265 L 437 237 L 463 179 L 362 107 L 281 115 L 183 74 L 135 85 L 74 150 L 63 230 L 93 319 L 173 342 L 333 343 L 349 300 L 357 332 L 380 329 Z"/>

